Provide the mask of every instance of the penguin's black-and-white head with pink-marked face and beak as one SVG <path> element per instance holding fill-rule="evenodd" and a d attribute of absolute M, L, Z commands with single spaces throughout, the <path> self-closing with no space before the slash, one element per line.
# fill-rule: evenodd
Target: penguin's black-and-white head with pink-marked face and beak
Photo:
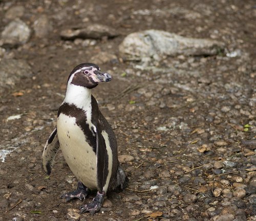
<path fill-rule="evenodd" d="M 98 65 L 93 63 L 79 64 L 70 73 L 68 84 L 87 87 L 92 89 L 96 87 L 99 82 L 111 81 L 111 75 L 106 72 L 100 72 Z"/>

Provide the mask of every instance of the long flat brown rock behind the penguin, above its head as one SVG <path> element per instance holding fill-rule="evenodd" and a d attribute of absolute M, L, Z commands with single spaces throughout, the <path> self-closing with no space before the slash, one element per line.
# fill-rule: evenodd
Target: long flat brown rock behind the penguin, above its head
<path fill-rule="evenodd" d="M 89 25 L 86 28 L 65 29 L 60 32 L 60 37 L 65 40 L 74 40 L 76 38 L 100 39 L 104 36 L 112 38 L 116 37 L 117 35 L 118 34 L 114 29 L 99 24 Z"/>

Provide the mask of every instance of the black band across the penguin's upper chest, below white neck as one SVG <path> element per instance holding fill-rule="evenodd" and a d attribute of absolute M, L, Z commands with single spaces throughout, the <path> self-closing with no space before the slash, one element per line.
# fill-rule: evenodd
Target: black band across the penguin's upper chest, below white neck
<path fill-rule="evenodd" d="M 97 152 L 96 135 L 90 129 L 87 122 L 86 111 L 77 107 L 74 104 L 63 103 L 58 110 L 58 117 L 60 114 L 65 114 L 69 117 L 76 119 L 76 124 L 81 128 L 83 134 L 86 136 L 86 142 L 93 148 L 93 151 Z"/>

